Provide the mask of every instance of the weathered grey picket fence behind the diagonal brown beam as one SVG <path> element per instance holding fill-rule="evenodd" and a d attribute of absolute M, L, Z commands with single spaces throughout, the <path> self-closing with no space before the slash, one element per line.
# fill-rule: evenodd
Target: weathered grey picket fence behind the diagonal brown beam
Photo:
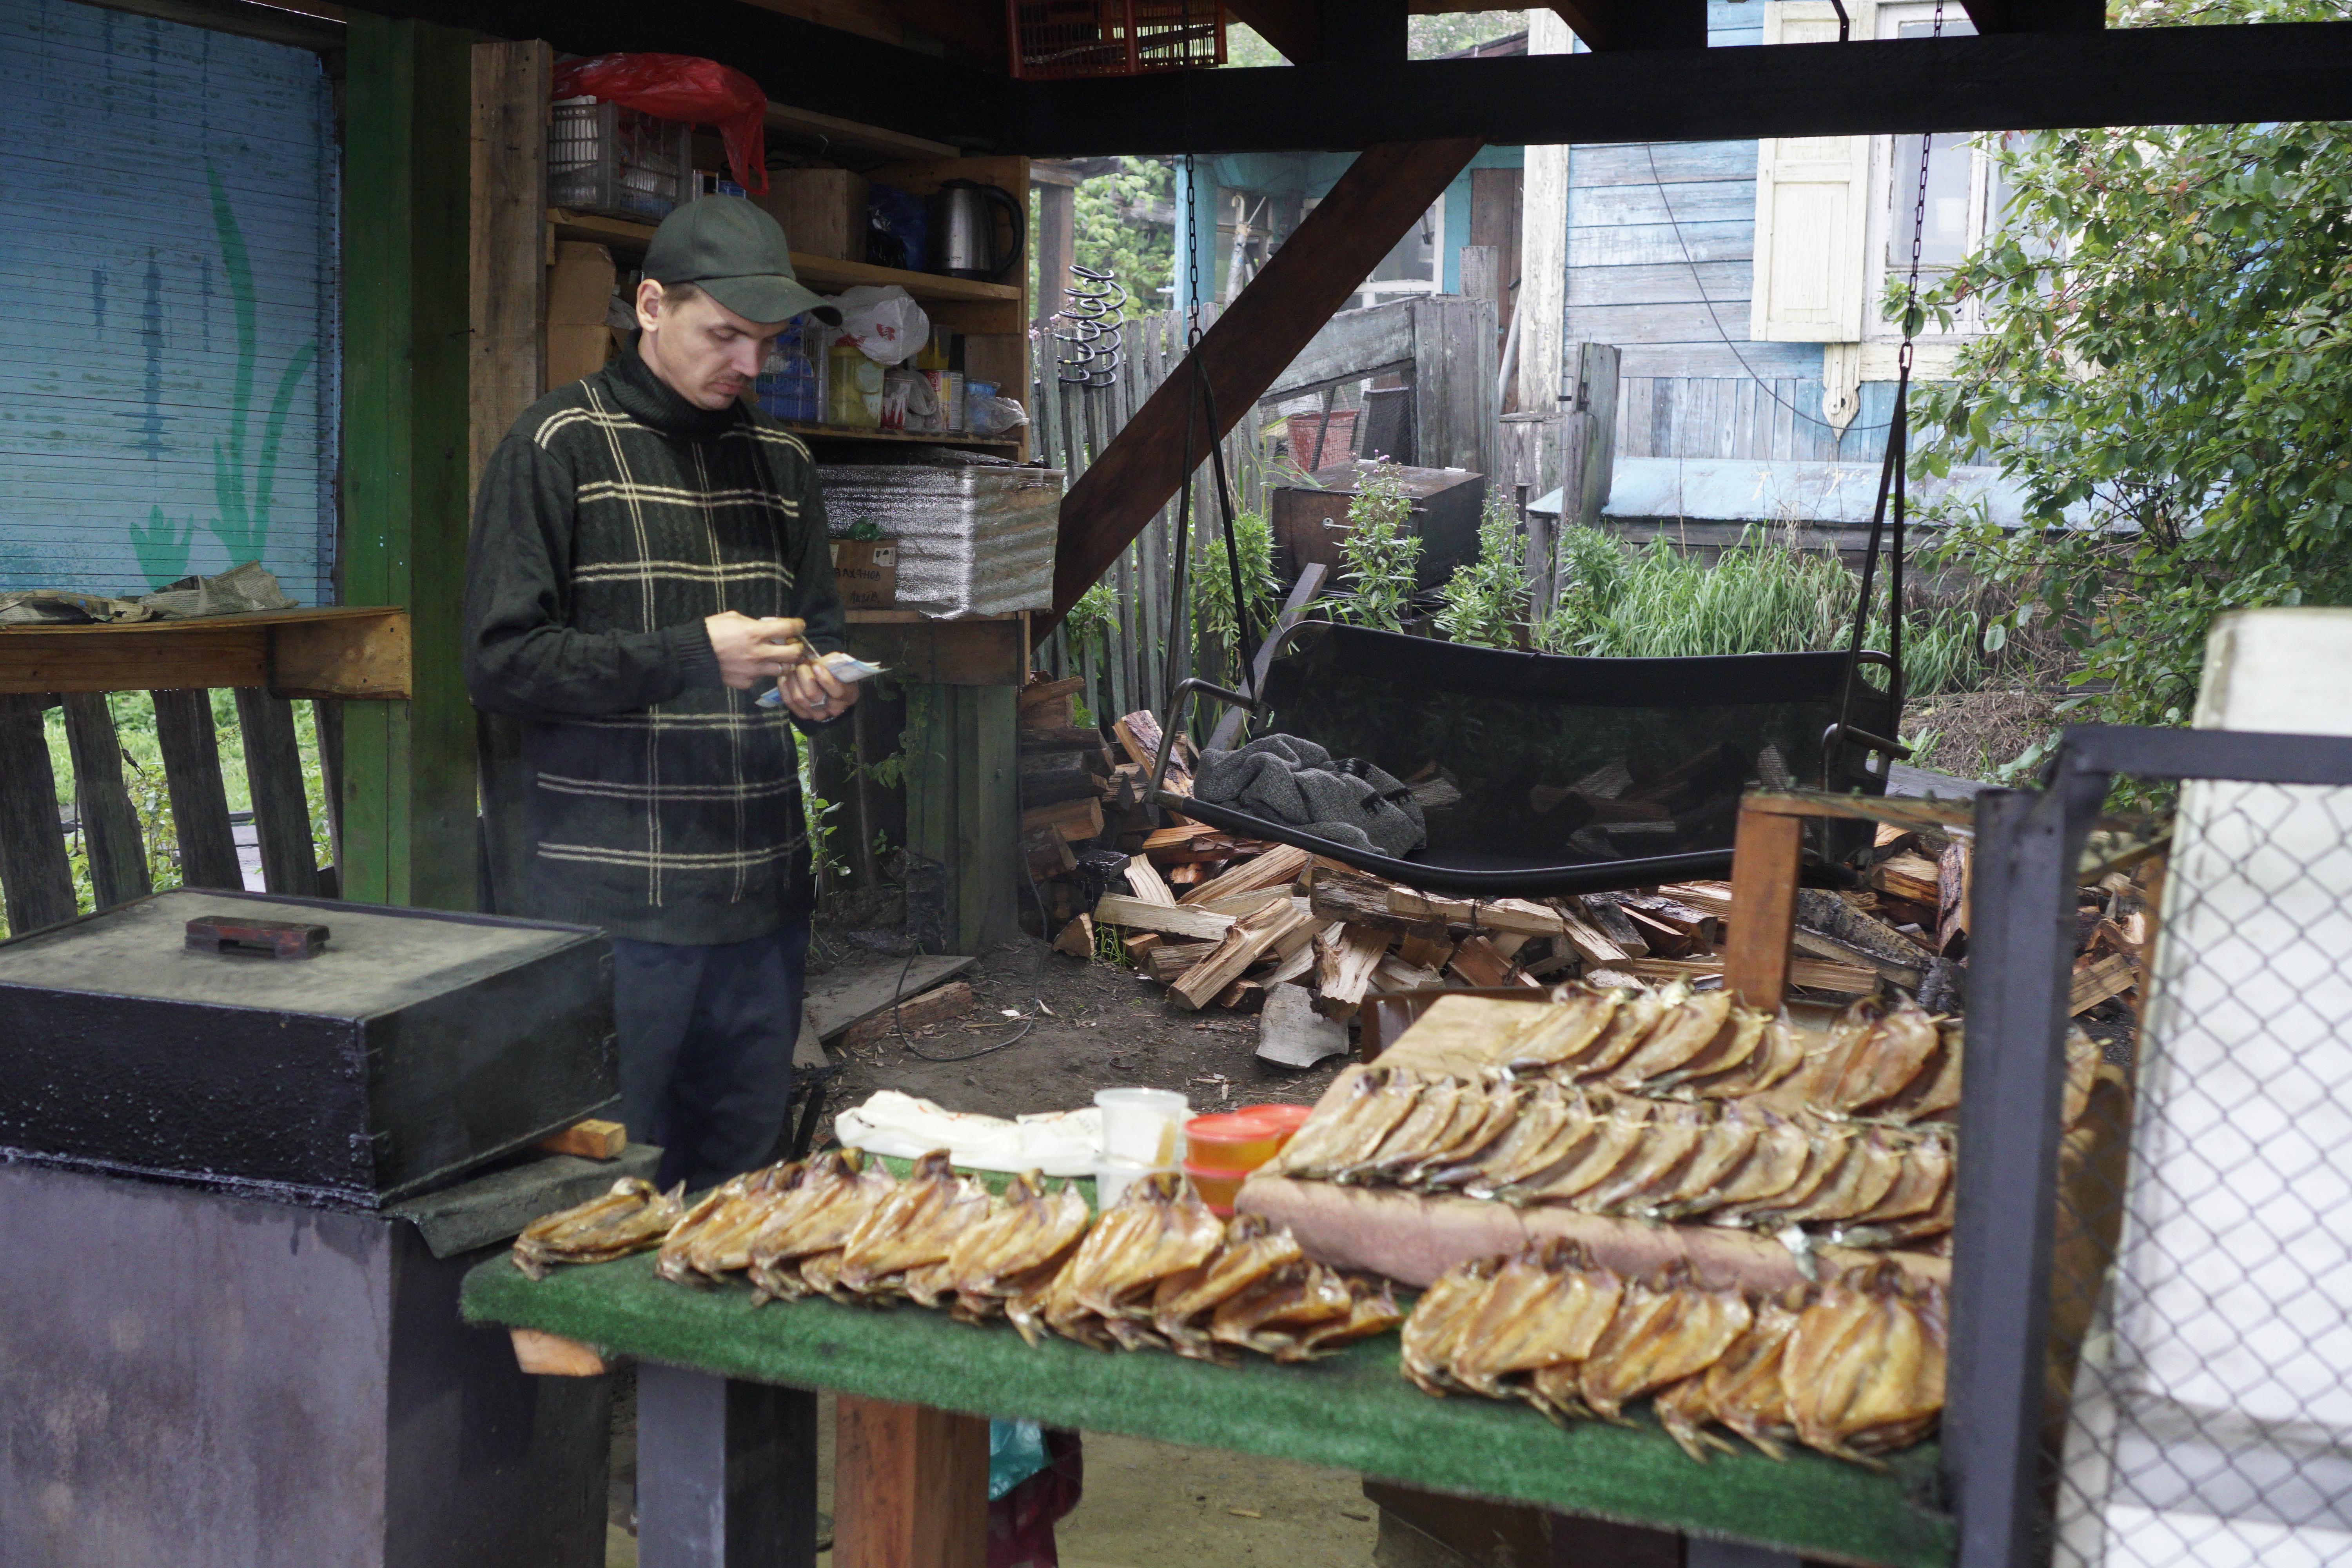
<path fill-rule="evenodd" d="M 1202 310 L 1202 329 L 1216 320 L 1216 308 Z M 1181 315 L 1131 317 L 1122 327 L 1120 357 L 1108 386 L 1063 381 L 1054 341 L 1040 341 L 1030 355 L 1037 381 L 1030 388 L 1035 461 L 1061 468 L 1075 484 L 1103 447 L 1127 425 L 1143 400 L 1183 362 L 1185 322 Z M 1077 364 L 1068 374 L 1077 374 Z M 1225 475 L 1237 510 L 1263 510 L 1275 458 L 1258 440 L 1258 418 L 1244 416 L 1223 440 Z M 1225 571 L 1225 543 L 1216 512 L 1216 480 L 1207 458 L 1192 475 L 1192 571 Z M 1143 534 L 1103 574 L 1112 592 L 1112 621 L 1105 637 L 1056 630 L 1037 649 L 1037 663 L 1054 675 L 1084 675 L 1087 705 L 1101 717 L 1138 708 L 1160 710 L 1167 703 L 1169 637 L 1176 592 L 1176 501 L 1169 501 Z M 1190 661 L 1188 661 L 1190 668 Z"/>

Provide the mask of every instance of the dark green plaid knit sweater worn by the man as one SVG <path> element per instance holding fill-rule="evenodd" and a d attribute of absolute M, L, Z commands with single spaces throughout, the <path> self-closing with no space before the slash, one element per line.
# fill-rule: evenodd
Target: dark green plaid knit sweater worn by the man
<path fill-rule="evenodd" d="M 793 719 L 720 682 L 703 618 L 729 609 L 842 646 L 807 447 L 635 343 L 515 421 L 475 498 L 466 689 L 522 719 L 541 919 L 741 943 L 809 907 Z"/>

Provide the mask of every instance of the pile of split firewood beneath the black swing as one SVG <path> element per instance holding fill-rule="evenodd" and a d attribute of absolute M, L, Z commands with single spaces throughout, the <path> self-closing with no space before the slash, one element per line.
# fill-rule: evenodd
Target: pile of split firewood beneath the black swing
<path fill-rule="evenodd" d="M 1063 722 L 1058 689 L 1065 684 L 1037 682 L 1023 693 L 1023 769 L 1033 755 L 1054 755 L 1042 748 Z M 1051 722 L 1033 722 L 1033 712 Z M 1272 1034 L 1315 1027 L 1315 1018 L 1324 1030 L 1348 1025 L 1367 997 L 1392 992 L 1571 978 L 1705 987 L 1724 971 L 1724 929 L 1736 919 L 1729 882 L 1543 900 L 1428 893 L 1178 813 L 1155 827 L 1141 792 L 1157 726 L 1138 712 L 1115 733 L 1124 757 L 1101 745 L 1084 752 L 1091 795 L 1068 797 L 1075 806 L 1030 797 L 1025 851 L 1051 886 L 1056 945 L 1089 957 L 1098 943 L 1108 954 L 1115 940 L 1178 1006 L 1272 1009 Z M 1178 741 L 1176 755 L 1185 752 Z M 1169 778 L 1181 792 L 1190 771 L 1171 764 Z M 1058 809 L 1077 813 L 1061 835 L 1049 820 Z M 1080 875 L 1080 837 L 1101 846 L 1087 856 L 1101 867 L 1091 879 Z M 2074 1016 L 2133 1013 L 2159 877 L 2161 856 L 2145 851 L 2086 875 Z M 1103 929 L 1110 940 L 1098 938 Z M 1882 825 L 1860 889 L 1799 889 L 1790 985 L 1825 1001 L 1896 990 L 1936 1013 L 1959 1013 L 1966 947 L 1969 835 Z"/>

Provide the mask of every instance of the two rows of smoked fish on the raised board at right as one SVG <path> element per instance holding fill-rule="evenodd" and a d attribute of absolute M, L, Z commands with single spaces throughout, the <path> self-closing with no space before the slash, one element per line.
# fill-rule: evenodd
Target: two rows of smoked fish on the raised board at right
<path fill-rule="evenodd" d="M 1317 1105 L 1268 1173 L 1628 1220 L 1802 1227 L 1844 1246 L 1919 1246 L 1950 1234 L 1955 1128 L 1919 1117 L 1957 1100 L 1957 1025 L 1907 999 L 1891 1009 L 1860 1001 L 1813 1053 L 1769 1046 L 1776 1058 L 1797 1056 L 1773 1074 L 1804 1072 L 1818 1086 L 1804 1103 L 1670 1098 L 1719 1081 L 1658 1067 L 1691 1039 L 1698 1056 L 1724 1037 L 1740 1037 L 1733 1053 L 1757 1039 L 1799 1039 L 1785 1020 L 1722 992 L 1672 990 L 1571 992 L 1503 1032 L 1475 1079 L 1359 1070 Z M 1611 1041 L 1628 1023 L 1630 1051 Z M 1661 1037 L 1670 1044 L 1653 1048 Z M 1588 1070 L 1609 1058 L 1637 1072 Z M 1693 1058 L 1684 1051 L 1684 1060 Z M 2096 1065 L 2089 1039 L 2070 1041 L 2067 1124 L 2082 1114 Z"/>

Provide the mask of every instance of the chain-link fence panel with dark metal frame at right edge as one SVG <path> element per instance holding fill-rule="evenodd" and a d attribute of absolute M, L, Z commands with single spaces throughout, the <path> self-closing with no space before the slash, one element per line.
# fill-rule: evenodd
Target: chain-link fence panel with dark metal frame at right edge
<path fill-rule="evenodd" d="M 2079 865 L 2117 776 L 2178 778 L 2180 804 L 2161 891 L 2107 877 L 2096 914 Z M 2009 1001 L 1971 1009 L 1971 1079 L 1985 1060 L 1992 1081 L 1969 1086 L 1969 1138 L 1990 1114 L 2011 1126 L 1978 1143 L 2034 1135 L 2016 1119 L 2039 1114 L 2072 980 L 2032 940 L 2051 917 L 2138 912 L 2147 966 L 2086 1114 L 2039 1124 L 2039 1197 L 1964 1173 L 1962 1561 L 2352 1561 L 2352 743 L 2070 731 L 2051 788 L 2002 818 L 1978 856 L 2018 940 L 1971 959 L 1971 992 Z"/>

